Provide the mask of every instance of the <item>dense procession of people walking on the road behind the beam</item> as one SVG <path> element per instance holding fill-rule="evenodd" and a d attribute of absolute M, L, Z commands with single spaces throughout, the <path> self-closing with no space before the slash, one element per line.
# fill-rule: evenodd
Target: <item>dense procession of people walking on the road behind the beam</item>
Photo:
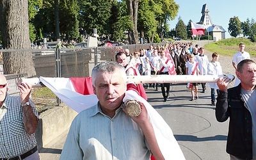
<path fill-rule="evenodd" d="M 166 44 L 164 46 L 150 45 L 148 49 L 140 49 L 140 52 L 130 53 L 129 49 L 124 50 L 125 64 L 136 68 L 140 75 L 150 76 L 159 74 L 170 75 L 220 75 L 222 68 L 218 62 L 218 53 L 212 54 L 212 60 L 204 54 L 204 47 L 200 47 L 191 42 L 179 42 Z M 120 60 L 116 60 L 118 63 Z M 205 83 L 201 83 L 202 93 L 205 93 Z M 156 90 L 161 88 L 164 102 L 170 98 L 170 83 L 164 84 L 145 84 L 145 88 L 152 87 Z M 218 86 L 211 84 L 211 104 L 215 106 L 215 91 L 218 93 Z M 191 99 L 198 99 L 198 83 L 188 84 L 191 90 Z M 195 92 L 195 93 L 194 93 Z"/>

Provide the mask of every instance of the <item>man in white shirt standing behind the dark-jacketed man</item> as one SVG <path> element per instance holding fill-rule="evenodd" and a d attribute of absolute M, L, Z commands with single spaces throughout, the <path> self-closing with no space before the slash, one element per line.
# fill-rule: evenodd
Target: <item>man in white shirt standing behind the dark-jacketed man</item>
<path fill-rule="evenodd" d="M 239 51 L 236 52 L 233 56 L 233 60 L 232 60 L 232 65 L 235 68 L 235 70 L 237 70 L 237 64 L 242 61 L 242 60 L 251 60 L 250 58 L 250 54 L 246 51 L 244 51 L 244 43 L 240 43 L 239 44 Z M 240 83 L 240 80 L 236 77 L 234 86 L 237 86 Z"/>

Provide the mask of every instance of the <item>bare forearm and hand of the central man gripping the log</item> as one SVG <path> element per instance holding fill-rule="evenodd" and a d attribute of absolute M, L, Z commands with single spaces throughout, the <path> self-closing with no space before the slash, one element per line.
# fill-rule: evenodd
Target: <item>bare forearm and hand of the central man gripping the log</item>
<path fill-rule="evenodd" d="M 144 104 L 140 102 L 141 105 L 141 114 L 137 117 L 132 116 L 132 120 L 136 122 L 140 126 L 141 131 L 143 132 L 148 146 L 150 147 L 150 151 L 152 152 L 153 156 L 156 159 L 164 159 L 163 154 L 157 144 L 156 135 L 154 133 L 154 129 L 152 124 L 148 120 L 148 113 L 147 109 L 145 108 Z M 125 111 L 125 109 L 123 109 Z M 126 113 L 126 111 L 125 111 Z"/>

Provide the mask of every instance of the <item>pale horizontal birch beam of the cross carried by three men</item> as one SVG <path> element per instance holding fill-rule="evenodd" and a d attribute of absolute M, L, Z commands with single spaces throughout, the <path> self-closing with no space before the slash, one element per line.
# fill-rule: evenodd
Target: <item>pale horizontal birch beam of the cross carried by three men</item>
<path fill-rule="evenodd" d="M 220 77 L 227 76 L 230 82 L 235 79 L 232 74 L 227 75 L 152 75 L 152 76 L 127 76 L 127 83 L 145 84 L 145 83 L 216 83 Z M 33 88 L 42 87 L 44 84 L 40 78 L 21 79 L 25 83 L 31 84 Z"/>

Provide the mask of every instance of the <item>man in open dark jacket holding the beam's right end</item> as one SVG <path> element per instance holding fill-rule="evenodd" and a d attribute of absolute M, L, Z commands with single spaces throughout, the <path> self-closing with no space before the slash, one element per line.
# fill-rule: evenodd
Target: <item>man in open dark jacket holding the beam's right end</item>
<path fill-rule="evenodd" d="M 236 76 L 241 83 L 227 89 L 230 80 L 221 77 L 216 103 L 216 118 L 225 122 L 229 117 L 227 153 L 231 160 L 256 159 L 256 63 L 243 60 L 237 65 Z"/>

